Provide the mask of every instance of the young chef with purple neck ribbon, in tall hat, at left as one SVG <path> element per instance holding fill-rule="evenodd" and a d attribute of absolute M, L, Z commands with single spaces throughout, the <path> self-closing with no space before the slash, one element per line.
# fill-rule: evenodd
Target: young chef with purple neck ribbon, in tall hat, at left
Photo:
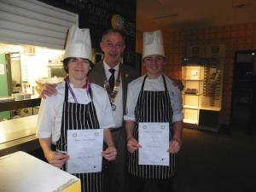
<path fill-rule="evenodd" d="M 89 29 L 72 26 L 68 32 L 63 61 L 68 76 L 57 85 L 56 96 L 42 100 L 38 114 L 37 137 L 44 155 L 51 165 L 65 171 L 68 170 L 67 160 L 71 158 L 67 151 L 67 133 L 73 130 L 88 133 L 87 130 L 104 129 L 104 141 L 108 147 L 102 151 L 102 156 L 115 160 L 117 155 L 108 129 L 114 125 L 108 94 L 87 78 L 93 67 L 91 59 Z M 51 144 L 55 145 L 55 149 L 51 148 Z M 74 175 L 81 179 L 83 192 L 103 190 L 102 172 L 76 172 Z"/>

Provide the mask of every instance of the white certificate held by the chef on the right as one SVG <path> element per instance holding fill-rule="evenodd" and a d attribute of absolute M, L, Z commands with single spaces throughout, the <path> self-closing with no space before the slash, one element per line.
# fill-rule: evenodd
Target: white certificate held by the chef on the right
<path fill-rule="evenodd" d="M 139 123 L 139 165 L 169 166 L 169 123 Z"/>

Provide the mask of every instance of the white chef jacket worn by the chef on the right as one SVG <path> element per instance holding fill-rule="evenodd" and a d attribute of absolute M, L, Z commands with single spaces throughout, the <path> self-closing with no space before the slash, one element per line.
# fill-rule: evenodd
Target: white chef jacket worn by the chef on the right
<path fill-rule="evenodd" d="M 145 75 L 142 77 L 135 79 L 131 81 L 130 84 L 128 84 L 128 90 L 127 90 L 127 102 L 126 102 L 126 108 L 125 108 L 125 120 L 132 120 L 136 121 L 135 119 L 135 108 L 137 104 L 137 98 L 139 96 L 140 90 L 142 89 L 143 85 L 143 79 L 145 78 Z M 180 120 L 183 120 L 183 105 L 182 105 L 182 96 L 181 91 L 173 84 L 173 81 L 166 77 L 166 86 L 167 90 L 171 99 L 172 103 L 172 122 L 177 122 Z M 165 90 L 165 84 L 163 81 L 162 76 L 158 79 L 146 79 L 144 84 L 144 90 L 151 90 L 151 91 L 163 91 Z"/>

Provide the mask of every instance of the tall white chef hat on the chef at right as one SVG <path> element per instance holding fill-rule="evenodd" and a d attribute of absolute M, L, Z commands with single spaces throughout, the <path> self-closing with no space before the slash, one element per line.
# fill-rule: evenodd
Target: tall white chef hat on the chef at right
<path fill-rule="evenodd" d="M 143 33 L 143 58 L 148 55 L 162 55 L 165 57 L 163 37 L 160 30 Z"/>

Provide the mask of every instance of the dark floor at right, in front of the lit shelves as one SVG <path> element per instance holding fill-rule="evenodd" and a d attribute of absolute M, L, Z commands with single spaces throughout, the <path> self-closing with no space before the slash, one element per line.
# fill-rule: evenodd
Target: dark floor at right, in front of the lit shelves
<path fill-rule="evenodd" d="M 256 134 L 184 129 L 176 162 L 175 192 L 256 191 Z"/>

